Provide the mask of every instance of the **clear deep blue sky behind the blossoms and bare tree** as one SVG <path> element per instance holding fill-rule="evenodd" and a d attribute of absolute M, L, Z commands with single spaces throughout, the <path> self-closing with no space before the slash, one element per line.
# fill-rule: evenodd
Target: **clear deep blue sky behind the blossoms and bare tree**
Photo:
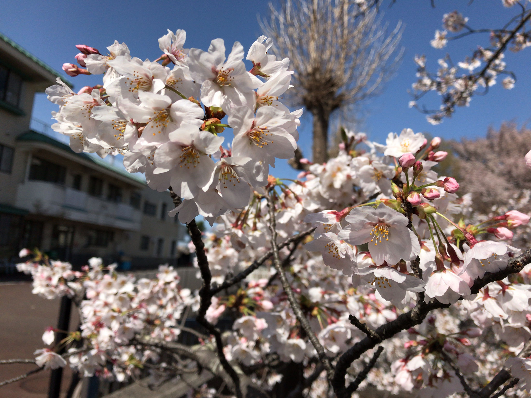
<path fill-rule="evenodd" d="M 374 141 L 383 141 L 389 132 L 399 132 L 410 127 L 415 132 L 430 132 L 447 139 L 478 137 L 485 135 L 489 126 L 499 127 L 504 120 L 513 120 L 519 125 L 529 118 L 529 88 L 531 86 L 531 49 L 518 54 L 507 53 L 510 70 L 518 81 L 513 90 L 503 90 L 501 84 L 491 88 L 485 97 L 474 97 L 469 108 L 459 108 L 455 116 L 439 126 L 431 126 L 425 116 L 409 109 L 407 90 L 415 81 L 415 54 L 426 54 L 430 70 L 435 70 L 436 60 L 449 51 L 456 62 L 474 50 L 476 44 L 487 45 L 487 35 L 450 42 L 443 50 L 430 47 L 429 41 L 435 29 L 440 29 L 443 13 L 453 10 L 469 16 L 469 24 L 477 28 L 496 28 L 507 21 L 516 10 L 506 9 L 501 0 L 476 0 L 468 6 L 468 0 L 435 0 L 436 8 L 429 0 L 398 0 L 388 8 L 384 1 L 381 8 L 383 21 L 394 27 L 401 20 L 405 24 L 402 45 L 404 59 L 391 82 L 377 98 L 366 102 L 362 116 L 362 131 Z M 257 16 L 266 15 L 266 1 L 108 1 L 66 2 L 7 0 L 2 4 L 0 31 L 13 39 L 48 65 L 61 71 L 65 62 L 75 63 L 76 44 L 87 44 L 105 51 L 116 39 L 124 41 L 131 54 L 140 58 L 156 59 L 160 55 L 157 39 L 166 29 L 185 29 L 186 46 L 207 49 L 213 38 L 225 39 L 227 48 L 240 41 L 245 50 L 262 32 Z M 68 78 L 74 89 L 93 85 L 101 76 Z M 431 108 L 439 106 L 436 94 L 427 97 Z M 50 111 L 56 106 L 38 94 L 33 116 L 49 121 Z M 310 155 L 311 118 L 305 117 L 300 129 L 299 145 Z M 531 143 L 530 143 L 531 145 Z M 278 177 L 293 176 L 293 170 L 278 162 Z"/>

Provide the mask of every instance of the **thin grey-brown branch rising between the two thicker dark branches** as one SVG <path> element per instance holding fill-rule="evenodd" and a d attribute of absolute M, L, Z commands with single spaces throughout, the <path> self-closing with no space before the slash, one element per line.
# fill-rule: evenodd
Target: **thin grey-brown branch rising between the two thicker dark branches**
<path fill-rule="evenodd" d="M 297 299 L 295 298 L 295 295 L 293 293 L 292 287 L 290 286 L 288 279 L 286 278 L 286 274 L 284 273 L 284 269 L 282 269 L 282 264 L 280 263 L 280 255 L 278 251 L 278 244 L 277 244 L 277 222 L 275 220 L 275 203 L 273 203 L 273 200 L 271 198 L 271 195 L 268 193 L 266 195 L 268 206 L 269 206 L 269 230 L 271 231 L 271 247 L 273 248 L 273 263 L 275 264 L 275 269 L 277 270 L 278 276 L 280 277 L 280 282 L 282 283 L 282 288 L 284 289 L 286 296 L 288 297 L 289 305 L 293 309 L 293 313 L 295 314 L 297 321 L 299 324 L 301 324 L 301 327 L 303 328 L 304 332 L 308 336 L 308 339 L 312 343 L 313 347 L 315 348 L 315 351 L 317 351 L 318 357 L 321 360 L 321 363 L 323 364 L 324 368 L 327 370 L 328 378 L 331 379 L 333 375 L 333 368 L 330 364 L 330 359 L 328 359 L 326 352 L 324 352 L 324 348 L 315 336 L 315 333 L 313 333 L 312 328 L 310 326 L 310 323 L 308 322 L 308 319 L 304 316 L 304 313 L 302 312 L 301 306 L 297 302 Z"/>

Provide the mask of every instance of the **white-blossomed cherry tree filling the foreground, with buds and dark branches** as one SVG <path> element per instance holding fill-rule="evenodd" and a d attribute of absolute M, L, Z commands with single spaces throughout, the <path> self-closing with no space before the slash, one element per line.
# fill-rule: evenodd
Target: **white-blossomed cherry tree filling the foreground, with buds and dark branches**
<path fill-rule="evenodd" d="M 238 398 L 527 396 L 531 251 L 510 238 L 530 217 L 475 219 L 458 181 L 433 170 L 441 140 L 407 128 L 385 144 L 344 131 L 337 157 L 296 180 L 271 176 L 297 148 L 302 111 L 279 101 L 289 59 L 268 54 L 265 37 L 247 55 L 221 39 L 185 49 L 185 38 L 168 31 L 153 62 L 118 42 L 107 55 L 80 45 L 81 68 L 65 71 L 102 84 L 75 93 L 58 80 L 47 93 L 74 151 L 122 153 L 128 171 L 169 189 L 202 288 L 164 265 L 135 280 L 98 258 L 73 271 L 24 249 L 33 293 L 71 297 L 80 327 L 55 344 L 48 328 L 35 360 L 0 362 L 153 385 L 206 369 Z M 259 268 L 266 278 L 248 278 Z M 202 331 L 185 326 L 191 314 Z M 179 342 L 182 332 L 199 343 Z"/>

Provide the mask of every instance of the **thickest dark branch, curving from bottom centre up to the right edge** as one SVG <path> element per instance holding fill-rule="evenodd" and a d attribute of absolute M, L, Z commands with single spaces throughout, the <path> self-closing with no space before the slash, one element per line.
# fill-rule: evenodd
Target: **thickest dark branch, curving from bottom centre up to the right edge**
<path fill-rule="evenodd" d="M 520 272 L 524 266 L 531 263 L 531 250 L 527 250 L 525 253 L 511 258 L 507 264 L 507 268 L 499 272 L 490 273 L 486 272 L 483 278 L 476 279 L 470 291 L 475 294 L 479 289 L 485 285 L 499 281 L 505 278 L 509 274 Z M 448 308 L 449 304 L 442 304 L 438 300 L 430 302 L 419 301 L 417 305 L 409 312 L 400 314 L 394 321 L 384 324 L 378 327 L 374 332 L 381 338 L 381 340 L 387 340 L 394 336 L 396 333 L 406 330 L 415 325 L 421 324 L 427 314 L 437 308 Z M 336 365 L 336 370 L 332 378 L 332 387 L 338 398 L 347 398 L 348 394 L 345 387 L 345 376 L 347 369 L 350 367 L 353 361 L 358 359 L 364 352 L 375 347 L 380 341 L 374 337 L 367 336 L 362 341 L 357 342 L 345 351 L 341 357 L 339 357 Z M 510 378 L 510 374 L 506 370 L 502 370 L 487 386 L 483 388 L 479 395 L 486 398 L 492 395 L 494 391 L 498 389 L 503 383 L 507 382 Z M 487 392 L 490 393 L 487 395 Z"/>

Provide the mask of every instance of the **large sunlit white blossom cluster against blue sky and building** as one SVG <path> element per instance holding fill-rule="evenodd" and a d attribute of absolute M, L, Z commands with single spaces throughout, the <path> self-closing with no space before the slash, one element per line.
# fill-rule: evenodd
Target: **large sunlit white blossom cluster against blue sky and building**
<path fill-rule="evenodd" d="M 107 55 L 78 45 L 76 59 L 86 69 L 63 69 L 71 76 L 104 74 L 102 85 L 74 93 L 58 79 L 46 93 L 60 106 L 52 128 L 70 136 L 75 152 L 124 154 L 127 171 L 183 199 L 173 212 L 182 222 L 199 214 L 213 222 L 249 203 L 252 189 L 267 184 L 275 158 L 293 157 L 302 110 L 290 112 L 279 101 L 293 72 L 288 58 L 268 54 L 271 39 L 261 36 L 249 49 L 250 72 L 239 42 L 226 56 L 222 39 L 208 51 L 183 48 L 185 39 L 185 31 L 168 30 L 156 61 L 131 56 L 117 41 Z M 221 123 L 225 116 L 228 124 Z M 226 127 L 234 137 L 224 148 Z"/>

